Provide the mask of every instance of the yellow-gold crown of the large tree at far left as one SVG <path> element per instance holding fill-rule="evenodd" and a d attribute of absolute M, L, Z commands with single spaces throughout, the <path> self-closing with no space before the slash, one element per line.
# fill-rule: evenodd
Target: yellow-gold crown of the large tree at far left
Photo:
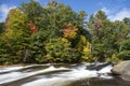
<path fill-rule="evenodd" d="M 29 37 L 30 34 L 28 18 L 20 9 L 12 9 L 9 12 L 5 28 L 5 35 L 10 38 L 14 38 L 14 35 Z"/>

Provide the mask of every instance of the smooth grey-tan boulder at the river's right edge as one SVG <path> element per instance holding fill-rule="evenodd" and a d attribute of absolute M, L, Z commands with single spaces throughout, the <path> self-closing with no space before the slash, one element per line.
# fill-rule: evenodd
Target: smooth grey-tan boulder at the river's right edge
<path fill-rule="evenodd" d="M 114 68 L 112 69 L 112 73 L 120 75 L 123 81 L 130 82 L 130 60 L 121 61 L 114 66 Z"/>

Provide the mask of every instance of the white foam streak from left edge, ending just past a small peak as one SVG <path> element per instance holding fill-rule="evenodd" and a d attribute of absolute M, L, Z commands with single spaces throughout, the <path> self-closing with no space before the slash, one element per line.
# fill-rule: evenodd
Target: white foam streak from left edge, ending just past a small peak
<path fill-rule="evenodd" d="M 25 77 L 28 77 L 28 76 L 31 76 L 31 75 L 35 75 L 35 74 L 39 74 L 39 73 L 46 73 L 46 72 L 57 71 L 57 70 L 68 70 L 68 69 L 67 68 L 57 68 L 56 69 L 53 66 L 51 66 L 48 69 L 39 70 L 39 71 L 35 71 L 35 72 L 27 72 L 27 73 L 11 72 L 11 73 L 8 73 L 8 74 L 1 74 L 0 75 L 0 84 L 8 83 L 8 82 L 13 82 L 13 81 L 16 81 L 16 80 L 22 80 L 22 78 L 25 78 Z"/>

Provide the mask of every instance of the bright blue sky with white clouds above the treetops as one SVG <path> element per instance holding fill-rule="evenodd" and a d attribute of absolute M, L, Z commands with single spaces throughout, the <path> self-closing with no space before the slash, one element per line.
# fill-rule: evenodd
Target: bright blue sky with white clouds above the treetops
<path fill-rule="evenodd" d="M 41 5 L 47 5 L 50 0 L 36 0 Z M 66 5 L 70 5 L 76 12 L 86 11 L 88 17 L 92 13 L 102 10 L 106 13 L 108 19 L 122 20 L 125 17 L 130 17 L 130 0 L 56 0 Z M 0 0 L 0 22 L 4 22 L 11 9 L 20 6 L 22 2 L 29 0 Z"/>

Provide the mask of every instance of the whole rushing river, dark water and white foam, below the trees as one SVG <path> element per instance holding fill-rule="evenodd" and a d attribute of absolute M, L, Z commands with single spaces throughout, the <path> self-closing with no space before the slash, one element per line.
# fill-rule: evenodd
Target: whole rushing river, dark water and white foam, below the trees
<path fill-rule="evenodd" d="M 110 69 L 112 63 L 0 67 L 0 86 L 130 86 Z"/>

